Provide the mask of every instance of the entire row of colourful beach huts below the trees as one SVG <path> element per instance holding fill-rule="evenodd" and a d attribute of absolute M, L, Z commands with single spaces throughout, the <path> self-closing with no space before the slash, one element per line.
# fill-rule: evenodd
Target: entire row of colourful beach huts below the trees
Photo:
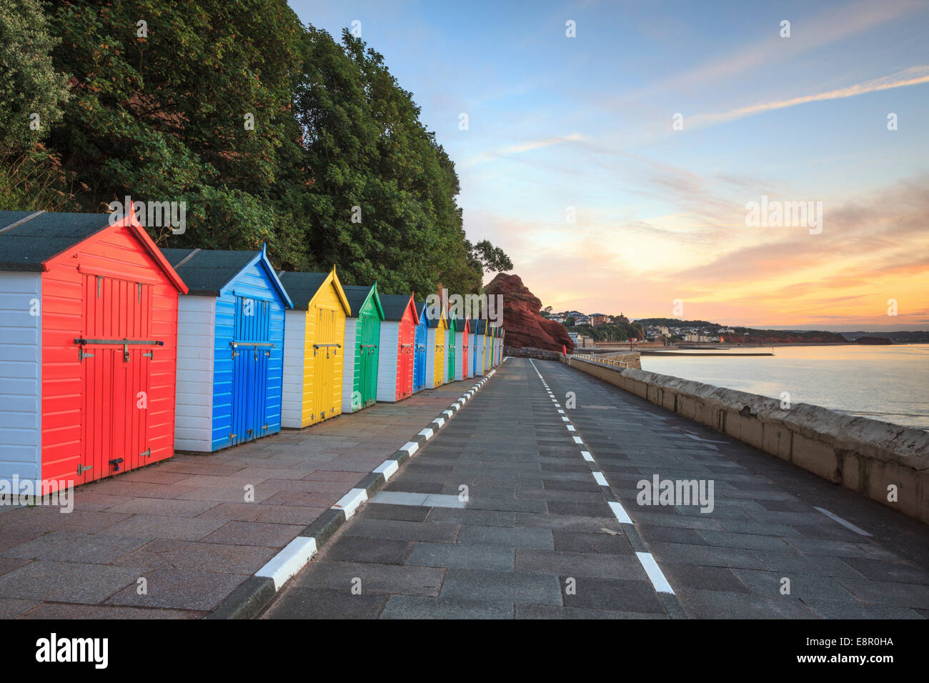
<path fill-rule="evenodd" d="M 486 374 L 503 330 L 133 213 L 0 211 L 0 479 L 54 490 Z"/>

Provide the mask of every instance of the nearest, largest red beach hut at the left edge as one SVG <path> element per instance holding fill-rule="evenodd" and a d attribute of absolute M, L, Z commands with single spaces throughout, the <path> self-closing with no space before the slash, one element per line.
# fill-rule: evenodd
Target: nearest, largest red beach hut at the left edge
<path fill-rule="evenodd" d="M 135 213 L 0 211 L 0 479 L 48 491 L 174 454 L 177 296 Z"/>

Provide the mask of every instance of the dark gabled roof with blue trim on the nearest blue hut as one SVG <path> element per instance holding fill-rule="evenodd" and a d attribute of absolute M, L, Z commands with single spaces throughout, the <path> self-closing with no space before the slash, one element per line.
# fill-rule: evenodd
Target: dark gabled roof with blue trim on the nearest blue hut
<path fill-rule="evenodd" d="M 277 273 L 271 268 L 264 245 L 261 251 L 162 249 L 162 254 L 187 284 L 189 294 L 195 296 L 221 296 L 243 270 L 261 261 L 284 303 L 289 308 L 294 308 L 294 303 L 287 295 Z"/>

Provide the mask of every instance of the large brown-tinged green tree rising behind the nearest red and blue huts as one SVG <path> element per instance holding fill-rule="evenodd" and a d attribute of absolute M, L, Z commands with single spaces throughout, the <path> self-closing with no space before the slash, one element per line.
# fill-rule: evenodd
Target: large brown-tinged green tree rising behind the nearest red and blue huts
<path fill-rule="evenodd" d="M 287 145 L 301 29 L 286 3 L 46 7 L 60 38 L 56 63 L 73 73 L 72 98 L 49 142 L 85 185 L 85 210 L 125 195 L 183 201 L 188 231 L 172 246 L 273 242 L 268 200 Z M 168 234 L 152 231 L 162 241 Z"/>

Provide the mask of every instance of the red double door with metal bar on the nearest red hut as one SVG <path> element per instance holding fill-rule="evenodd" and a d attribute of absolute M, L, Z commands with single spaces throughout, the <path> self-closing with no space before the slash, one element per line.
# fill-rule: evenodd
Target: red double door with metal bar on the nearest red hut
<path fill-rule="evenodd" d="M 85 274 L 83 308 L 74 339 L 83 385 L 75 483 L 146 464 L 151 359 L 162 344 L 151 338 L 149 284 Z"/>

